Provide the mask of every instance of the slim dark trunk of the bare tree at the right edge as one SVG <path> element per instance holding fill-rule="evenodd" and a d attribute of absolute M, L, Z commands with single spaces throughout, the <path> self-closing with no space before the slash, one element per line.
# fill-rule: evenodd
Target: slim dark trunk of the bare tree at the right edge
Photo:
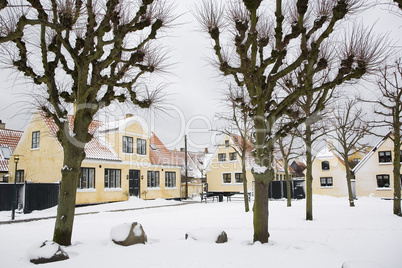
<path fill-rule="evenodd" d="M 402 217 L 401 211 L 401 136 L 399 113 L 394 115 L 394 214 Z"/>

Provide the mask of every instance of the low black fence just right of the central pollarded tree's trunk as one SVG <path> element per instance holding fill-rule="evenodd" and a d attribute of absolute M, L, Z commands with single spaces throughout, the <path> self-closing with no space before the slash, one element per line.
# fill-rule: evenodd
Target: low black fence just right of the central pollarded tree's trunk
<path fill-rule="evenodd" d="M 290 194 L 291 198 L 303 199 L 306 197 L 304 192 L 303 180 L 290 181 Z M 272 199 L 287 198 L 287 183 L 286 181 L 271 181 L 269 184 L 268 197 Z"/>

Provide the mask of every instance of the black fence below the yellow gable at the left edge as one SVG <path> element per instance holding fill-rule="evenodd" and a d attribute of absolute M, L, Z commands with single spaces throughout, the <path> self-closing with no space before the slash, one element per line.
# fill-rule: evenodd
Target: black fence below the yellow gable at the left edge
<path fill-rule="evenodd" d="M 56 206 L 59 201 L 59 183 L 17 183 L 16 209 L 24 213 Z M 0 211 L 11 210 L 14 184 L 0 183 Z"/>

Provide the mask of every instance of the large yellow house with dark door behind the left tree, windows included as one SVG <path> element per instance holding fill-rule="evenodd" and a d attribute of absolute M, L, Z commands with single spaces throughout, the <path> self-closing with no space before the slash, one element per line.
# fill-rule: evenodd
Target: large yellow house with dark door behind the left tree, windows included
<path fill-rule="evenodd" d="M 73 120 L 69 117 L 70 123 Z M 54 121 L 43 113 L 33 115 L 14 152 L 20 155 L 18 172 L 24 181 L 61 180 L 63 148 L 55 136 L 57 130 Z M 139 118 L 94 120 L 89 131 L 94 137 L 85 145 L 77 204 L 123 201 L 129 196 L 180 197 L 180 166 L 169 157 L 156 157 L 163 149 L 161 142 Z M 13 161 L 9 164 L 10 169 L 14 168 Z"/>

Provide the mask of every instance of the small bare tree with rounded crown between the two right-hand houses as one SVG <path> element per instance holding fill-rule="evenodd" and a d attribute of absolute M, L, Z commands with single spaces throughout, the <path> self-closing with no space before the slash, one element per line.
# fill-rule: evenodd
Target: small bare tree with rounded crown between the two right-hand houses
<path fill-rule="evenodd" d="M 354 207 L 353 173 L 349 157 L 367 147 L 366 144 L 362 143 L 362 139 L 369 134 L 372 126 L 365 120 L 363 108 L 357 107 L 357 100 L 349 100 L 344 106 L 338 106 L 338 109 L 334 112 L 333 126 L 333 134 L 328 136 L 338 143 L 338 146 L 334 146 L 333 150 L 342 157 L 345 163 L 349 205 Z"/>

